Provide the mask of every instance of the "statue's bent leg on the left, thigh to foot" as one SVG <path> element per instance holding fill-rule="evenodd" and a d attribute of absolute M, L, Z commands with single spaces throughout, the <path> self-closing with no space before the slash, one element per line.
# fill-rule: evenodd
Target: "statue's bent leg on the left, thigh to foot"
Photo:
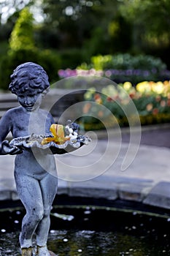
<path fill-rule="evenodd" d="M 30 176 L 16 175 L 15 182 L 18 196 L 26 208 L 20 233 L 20 247 L 29 248 L 32 246 L 32 236 L 36 227 L 44 215 L 42 191 L 39 181 Z"/>

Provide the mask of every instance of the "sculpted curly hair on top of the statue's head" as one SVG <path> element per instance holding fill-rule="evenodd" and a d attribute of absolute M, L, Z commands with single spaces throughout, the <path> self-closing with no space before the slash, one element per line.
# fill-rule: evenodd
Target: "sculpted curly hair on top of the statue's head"
<path fill-rule="evenodd" d="M 39 64 L 26 62 L 20 64 L 10 76 L 11 83 L 9 90 L 13 94 L 23 94 L 25 91 L 30 93 L 44 93 L 50 88 L 47 73 Z"/>

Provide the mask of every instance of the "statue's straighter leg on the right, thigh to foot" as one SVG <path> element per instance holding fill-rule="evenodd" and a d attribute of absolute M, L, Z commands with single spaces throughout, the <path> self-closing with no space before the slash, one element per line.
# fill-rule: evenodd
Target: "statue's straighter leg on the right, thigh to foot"
<path fill-rule="evenodd" d="M 48 173 L 47 176 L 40 181 L 40 186 L 44 203 L 44 217 L 36 228 L 36 243 L 40 250 L 46 250 L 47 237 L 50 228 L 50 211 L 54 197 L 57 193 L 58 178 Z"/>

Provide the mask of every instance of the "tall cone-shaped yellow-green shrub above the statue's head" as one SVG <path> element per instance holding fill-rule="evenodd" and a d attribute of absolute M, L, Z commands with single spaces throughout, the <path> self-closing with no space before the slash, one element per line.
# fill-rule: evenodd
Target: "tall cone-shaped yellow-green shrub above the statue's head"
<path fill-rule="evenodd" d="M 11 50 L 33 49 L 35 47 L 33 20 L 27 7 L 20 12 L 9 39 Z"/>

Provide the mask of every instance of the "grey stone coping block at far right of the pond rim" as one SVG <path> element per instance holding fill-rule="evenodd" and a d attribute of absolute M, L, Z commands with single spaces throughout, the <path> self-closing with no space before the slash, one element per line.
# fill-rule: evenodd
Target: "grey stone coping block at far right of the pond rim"
<path fill-rule="evenodd" d="M 156 184 L 143 200 L 143 203 L 170 209 L 170 183 L 161 181 Z"/>

